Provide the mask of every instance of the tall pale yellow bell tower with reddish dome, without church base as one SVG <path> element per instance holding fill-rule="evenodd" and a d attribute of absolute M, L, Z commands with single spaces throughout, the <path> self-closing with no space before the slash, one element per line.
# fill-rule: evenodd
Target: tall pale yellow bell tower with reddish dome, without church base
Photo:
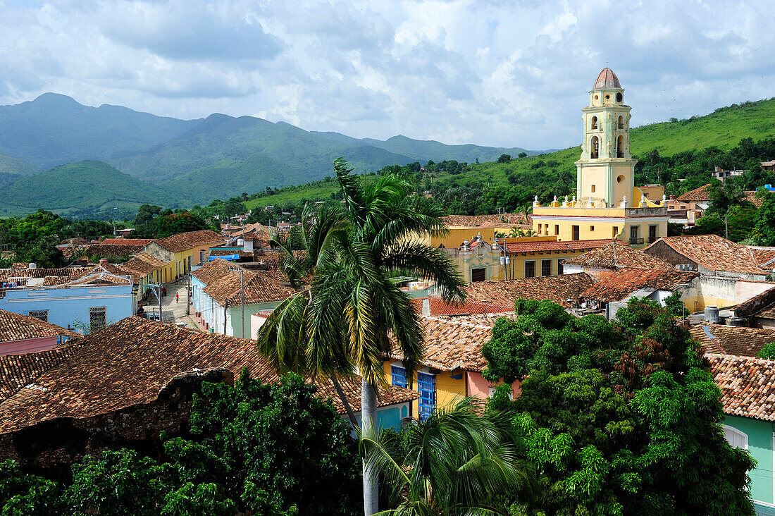
<path fill-rule="evenodd" d="M 629 147 L 630 106 L 610 68 L 603 68 L 582 109 L 584 140 L 576 161 L 576 192 L 582 206 L 618 208 L 632 203 L 635 164 Z"/>

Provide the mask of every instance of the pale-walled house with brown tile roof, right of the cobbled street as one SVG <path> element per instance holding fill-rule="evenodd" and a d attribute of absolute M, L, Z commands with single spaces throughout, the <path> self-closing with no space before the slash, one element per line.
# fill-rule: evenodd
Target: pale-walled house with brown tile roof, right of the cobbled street
<path fill-rule="evenodd" d="M 253 270 L 222 259 L 209 261 L 191 273 L 194 316 L 214 333 L 248 337 L 252 313 L 273 309 L 294 293 L 283 281 L 277 269 Z"/>

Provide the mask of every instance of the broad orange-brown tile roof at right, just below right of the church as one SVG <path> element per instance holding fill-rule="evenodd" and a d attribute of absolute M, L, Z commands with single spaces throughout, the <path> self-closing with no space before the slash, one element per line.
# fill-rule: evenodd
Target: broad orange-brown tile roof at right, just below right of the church
<path fill-rule="evenodd" d="M 764 275 L 759 266 L 759 261 L 753 252 L 745 245 L 735 244 L 724 237 L 715 234 L 691 235 L 682 237 L 660 237 L 656 242 L 644 249 L 647 255 L 649 250 L 658 248 L 662 243 L 673 248 L 680 255 L 684 255 L 698 265 L 702 265 L 711 271 L 738 272 L 742 274 Z"/>

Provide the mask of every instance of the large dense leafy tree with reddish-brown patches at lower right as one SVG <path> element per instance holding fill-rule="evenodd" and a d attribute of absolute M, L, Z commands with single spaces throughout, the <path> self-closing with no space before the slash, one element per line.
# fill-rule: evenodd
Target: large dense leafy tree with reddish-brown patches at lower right
<path fill-rule="evenodd" d="M 746 451 L 725 441 L 718 387 L 672 314 L 633 300 L 618 323 L 516 303 L 484 346 L 489 379 L 524 379 L 512 414 L 543 491 L 515 514 L 753 514 Z"/>

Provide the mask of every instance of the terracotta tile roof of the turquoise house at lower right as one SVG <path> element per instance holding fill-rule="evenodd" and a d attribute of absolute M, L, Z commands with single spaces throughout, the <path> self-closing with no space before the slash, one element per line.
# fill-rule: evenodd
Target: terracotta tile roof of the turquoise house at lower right
<path fill-rule="evenodd" d="M 775 362 L 733 355 L 705 355 L 722 391 L 725 414 L 775 421 Z"/>

